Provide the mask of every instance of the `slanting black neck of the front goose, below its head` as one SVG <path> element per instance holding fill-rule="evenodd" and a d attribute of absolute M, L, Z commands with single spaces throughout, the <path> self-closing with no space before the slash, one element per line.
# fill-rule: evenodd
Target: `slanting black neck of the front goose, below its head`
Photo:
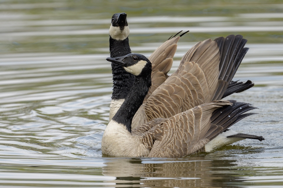
<path fill-rule="evenodd" d="M 147 73 L 146 76 L 136 76 L 136 80 L 129 95 L 112 118 L 112 120 L 117 123 L 125 125 L 129 132 L 131 132 L 133 117 L 142 105 L 142 102 L 151 87 L 151 65 L 149 69 L 150 73 Z"/>

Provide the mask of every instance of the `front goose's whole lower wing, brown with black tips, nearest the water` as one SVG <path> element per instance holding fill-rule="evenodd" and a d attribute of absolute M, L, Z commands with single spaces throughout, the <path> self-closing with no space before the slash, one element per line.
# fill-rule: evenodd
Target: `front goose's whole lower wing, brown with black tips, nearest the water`
<path fill-rule="evenodd" d="M 239 120 L 255 114 L 244 114 L 255 108 L 235 100 L 212 101 L 170 118 L 152 120 L 136 127 L 132 135 L 138 136 L 147 148 L 147 157 L 184 157 L 201 150 Z M 237 134 L 234 137 L 264 140 L 256 135 Z"/>

